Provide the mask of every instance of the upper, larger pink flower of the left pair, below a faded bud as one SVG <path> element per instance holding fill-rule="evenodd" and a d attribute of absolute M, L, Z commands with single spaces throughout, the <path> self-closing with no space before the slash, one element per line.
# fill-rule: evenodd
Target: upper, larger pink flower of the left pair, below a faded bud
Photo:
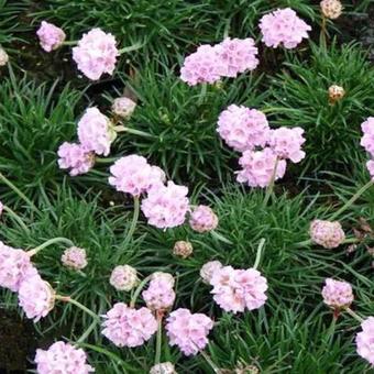
<path fill-rule="evenodd" d="M 116 131 L 111 130 L 109 118 L 96 107 L 86 109 L 78 122 L 78 139 L 84 148 L 108 156 L 114 138 Z"/>

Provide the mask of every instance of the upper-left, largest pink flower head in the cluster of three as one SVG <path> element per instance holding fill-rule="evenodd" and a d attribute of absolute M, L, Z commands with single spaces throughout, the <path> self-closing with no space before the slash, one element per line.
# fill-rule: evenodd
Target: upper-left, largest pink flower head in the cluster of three
<path fill-rule="evenodd" d="M 268 122 L 263 112 L 235 105 L 221 112 L 217 131 L 229 146 L 239 152 L 265 146 L 270 135 Z"/>

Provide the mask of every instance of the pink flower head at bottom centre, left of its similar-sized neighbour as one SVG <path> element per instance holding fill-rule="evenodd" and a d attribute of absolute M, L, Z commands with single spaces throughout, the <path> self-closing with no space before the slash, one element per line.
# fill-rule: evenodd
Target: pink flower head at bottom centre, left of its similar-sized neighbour
<path fill-rule="evenodd" d="M 114 304 L 102 323 L 102 334 L 117 346 L 139 346 L 157 331 L 157 321 L 147 308 L 134 309 L 124 302 Z"/>

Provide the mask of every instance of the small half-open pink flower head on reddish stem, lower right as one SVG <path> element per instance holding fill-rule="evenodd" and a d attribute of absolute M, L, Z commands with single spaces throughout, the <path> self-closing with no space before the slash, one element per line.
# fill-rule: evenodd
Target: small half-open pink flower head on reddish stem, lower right
<path fill-rule="evenodd" d="M 349 307 L 353 301 L 352 287 L 346 282 L 327 278 L 326 286 L 322 288 L 324 304 L 333 308 Z"/>

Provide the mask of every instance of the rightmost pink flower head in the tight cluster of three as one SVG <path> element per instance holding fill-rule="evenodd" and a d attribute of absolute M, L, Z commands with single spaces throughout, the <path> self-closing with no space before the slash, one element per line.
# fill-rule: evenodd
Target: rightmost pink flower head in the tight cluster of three
<path fill-rule="evenodd" d="M 305 143 L 301 128 L 279 128 L 271 131 L 270 146 L 279 158 L 299 163 L 305 157 L 301 145 Z"/>

